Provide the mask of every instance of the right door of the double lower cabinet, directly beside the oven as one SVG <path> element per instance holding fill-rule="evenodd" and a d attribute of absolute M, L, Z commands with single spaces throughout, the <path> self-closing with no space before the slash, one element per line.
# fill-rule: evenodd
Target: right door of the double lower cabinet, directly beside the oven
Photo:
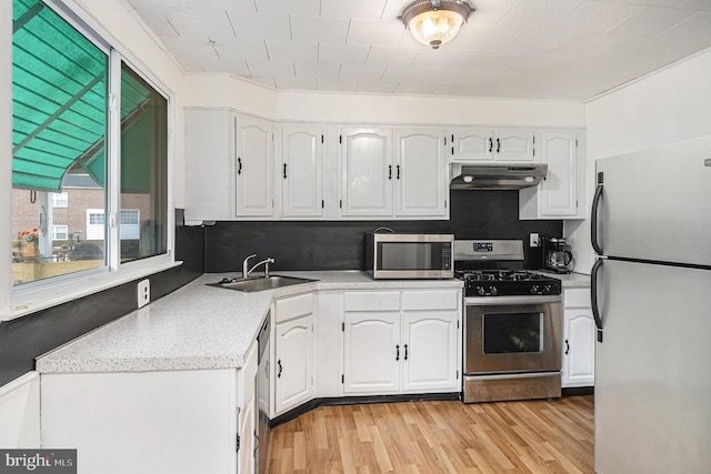
<path fill-rule="evenodd" d="M 405 311 L 403 319 L 402 390 L 458 391 L 458 313 Z"/>

